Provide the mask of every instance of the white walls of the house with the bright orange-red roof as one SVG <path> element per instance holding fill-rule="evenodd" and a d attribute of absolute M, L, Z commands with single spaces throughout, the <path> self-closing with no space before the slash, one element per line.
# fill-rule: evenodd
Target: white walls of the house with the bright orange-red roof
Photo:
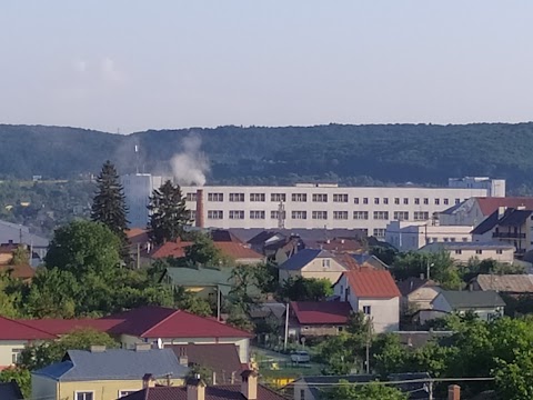
<path fill-rule="evenodd" d="M 351 290 L 346 274 L 333 286 L 333 294 L 349 301 L 352 310 L 362 311 L 372 318 L 375 333 L 394 332 L 400 329 L 400 297 L 391 299 L 358 298 Z"/>

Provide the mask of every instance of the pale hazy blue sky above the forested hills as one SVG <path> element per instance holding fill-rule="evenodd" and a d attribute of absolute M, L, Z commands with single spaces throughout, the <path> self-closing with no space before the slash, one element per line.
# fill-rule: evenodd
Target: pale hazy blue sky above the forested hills
<path fill-rule="evenodd" d="M 533 1 L 3 0 L 0 123 L 533 120 Z"/>

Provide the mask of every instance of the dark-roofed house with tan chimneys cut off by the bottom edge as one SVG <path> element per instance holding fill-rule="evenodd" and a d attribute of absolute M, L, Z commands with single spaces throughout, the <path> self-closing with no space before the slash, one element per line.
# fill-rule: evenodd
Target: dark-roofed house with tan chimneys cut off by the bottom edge
<path fill-rule="evenodd" d="M 157 387 L 149 383 L 147 388 L 129 394 L 123 400 L 286 400 L 282 394 L 258 383 L 253 371 L 241 373 L 237 384 L 207 386 L 200 378 L 190 378 L 183 387 Z"/>

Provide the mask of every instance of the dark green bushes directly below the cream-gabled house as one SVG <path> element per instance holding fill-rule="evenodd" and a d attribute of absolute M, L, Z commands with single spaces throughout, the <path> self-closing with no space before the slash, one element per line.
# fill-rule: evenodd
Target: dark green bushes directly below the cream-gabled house
<path fill-rule="evenodd" d="M 291 301 L 319 301 L 333 294 L 329 279 L 321 278 L 289 278 L 280 290 L 284 299 Z"/>

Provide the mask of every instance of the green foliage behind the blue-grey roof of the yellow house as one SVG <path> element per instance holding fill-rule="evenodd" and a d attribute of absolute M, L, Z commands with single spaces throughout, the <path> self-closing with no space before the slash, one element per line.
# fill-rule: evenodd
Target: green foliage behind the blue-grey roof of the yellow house
<path fill-rule="evenodd" d="M 115 348 L 118 344 L 108 333 L 93 329 L 74 330 L 59 340 L 28 346 L 20 354 L 19 367 L 33 371 L 60 362 L 67 350 L 89 350 L 91 346 Z"/>

